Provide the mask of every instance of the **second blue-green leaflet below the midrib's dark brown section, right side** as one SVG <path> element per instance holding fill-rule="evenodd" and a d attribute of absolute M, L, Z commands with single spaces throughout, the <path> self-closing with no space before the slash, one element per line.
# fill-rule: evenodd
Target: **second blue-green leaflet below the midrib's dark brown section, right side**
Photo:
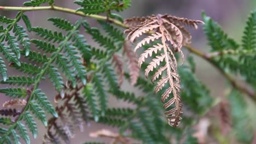
<path fill-rule="evenodd" d="M 40 121 L 42 121 L 42 123 L 46 127 L 47 126 L 47 121 L 46 121 L 46 117 L 45 117 L 45 114 L 44 114 L 44 111 L 42 110 L 42 108 L 34 100 L 31 100 L 30 103 L 28 103 L 28 105 L 30 106 L 30 111 L 33 112 L 34 115 Z"/>

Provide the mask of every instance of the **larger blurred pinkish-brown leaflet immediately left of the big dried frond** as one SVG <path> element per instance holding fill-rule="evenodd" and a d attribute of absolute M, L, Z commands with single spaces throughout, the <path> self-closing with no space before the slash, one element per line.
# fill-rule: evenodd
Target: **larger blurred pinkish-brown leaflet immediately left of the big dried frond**
<path fill-rule="evenodd" d="M 139 77 L 138 58 L 135 52 L 130 48 L 127 40 L 124 41 L 123 55 L 126 55 L 126 62 L 130 71 L 131 85 L 135 85 Z"/>

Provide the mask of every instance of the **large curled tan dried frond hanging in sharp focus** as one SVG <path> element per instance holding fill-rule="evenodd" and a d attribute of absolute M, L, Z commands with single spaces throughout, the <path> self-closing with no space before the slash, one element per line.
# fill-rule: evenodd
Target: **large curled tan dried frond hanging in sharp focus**
<path fill-rule="evenodd" d="M 127 22 L 133 21 L 140 22 L 139 25 L 127 29 L 125 32 L 129 32 L 127 39 L 133 43 L 136 38 L 142 34 L 150 34 L 148 37 L 139 41 L 135 47 L 135 52 L 145 44 L 149 44 L 156 39 L 161 40 L 161 43 L 149 47 L 144 51 L 138 59 L 138 64 L 141 66 L 145 62 L 146 58 L 152 57 L 153 52 L 161 54 L 152 59 L 145 70 L 145 76 L 148 77 L 150 71 L 154 71 L 159 67 L 160 63 L 165 63 L 164 67 L 160 67 L 156 70 L 152 77 L 152 82 L 158 81 L 155 88 L 155 92 L 158 93 L 165 85 L 168 85 L 166 91 L 162 94 L 161 101 L 164 104 L 164 108 L 167 109 L 165 112 L 168 117 L 168 122 L 171 126 L 176 127 L 181 121 L 182 103 L 179 75 L 177 73 L 177 60 L 174 56 L 174 52 L 181 53 L 182 59 L 184 59 L 181 51 L 183 44 L 189 44 L 191 41 L 191 35 L 182 25 L 193 26 L 197 28 L 198 23 L 202 23 L 197 20 L 188 20 L 180 17 L 171 15 L 153 15 L 143 19 L 131 19 Z M 184 61 L 184 60 L 183 60 Z M 161 76 L 166 71 L 166 76 Z M 160 77 L 161 76 L 161 77 Z M 168 84 L 167 84 L 168 83 Z M 169 95 L 172 94 L 173 98 L 167 100 Z M 175 105 L 171 108 L 171 105 Z"/>

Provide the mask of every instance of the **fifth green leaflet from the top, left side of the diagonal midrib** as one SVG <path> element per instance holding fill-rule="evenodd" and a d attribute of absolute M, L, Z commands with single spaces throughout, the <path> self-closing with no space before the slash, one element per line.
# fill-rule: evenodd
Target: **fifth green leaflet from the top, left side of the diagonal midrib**
<path fill-rule="evenodd" d="M 32 65 L 31 63 L 21 62 L 20 66 L 16 64 L 13 64 L 12 66 L 17 70 L 30 75 L 39 74 L 41 71 L 40 67 L 37 65 Z"/>

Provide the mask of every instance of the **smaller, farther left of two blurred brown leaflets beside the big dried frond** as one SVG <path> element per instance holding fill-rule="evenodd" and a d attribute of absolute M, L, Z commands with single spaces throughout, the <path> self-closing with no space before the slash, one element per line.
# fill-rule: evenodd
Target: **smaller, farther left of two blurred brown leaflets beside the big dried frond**
<path fill-rule="evenodd" d="M 121 86 L 124 79 L 123 61 L 121 56 L 114 53 L 112 63 L 114 63 L 114 68 L 118 75 L 118 86 Z"/>

